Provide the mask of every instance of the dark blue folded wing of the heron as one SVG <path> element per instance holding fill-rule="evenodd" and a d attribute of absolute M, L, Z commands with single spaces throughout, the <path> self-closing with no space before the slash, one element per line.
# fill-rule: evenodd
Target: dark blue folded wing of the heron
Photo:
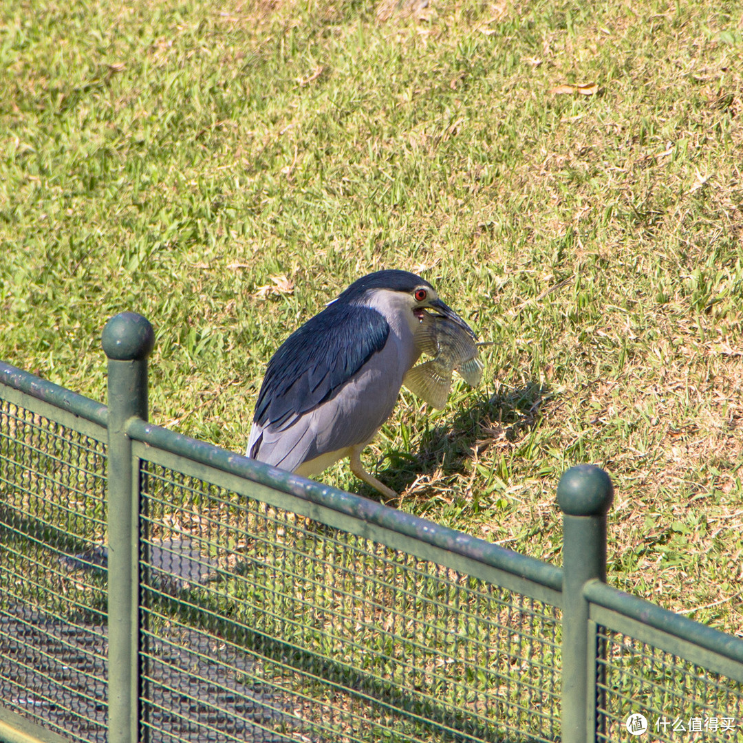
<path fill-rule="evenodd" d="M 389 336 L 376 310 L 333 302 L 294 331 L 268 362 L 253 422 L 282 429 L 331 400 Z"/>

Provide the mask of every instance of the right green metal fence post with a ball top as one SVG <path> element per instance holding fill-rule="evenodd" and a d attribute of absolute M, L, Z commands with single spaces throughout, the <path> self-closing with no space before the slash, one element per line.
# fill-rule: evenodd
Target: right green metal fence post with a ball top
<path fill-rule="evenodd" d="M 595 740 L 596 692 L 588 680 L 595 679 L 596 632 L 589 627 L 583 586 L 606 581 L 606 512 L 613 497 L 609 475 L 586 464 L 571 467 L 557 486 L 563 514 L 562 743 Z"/>

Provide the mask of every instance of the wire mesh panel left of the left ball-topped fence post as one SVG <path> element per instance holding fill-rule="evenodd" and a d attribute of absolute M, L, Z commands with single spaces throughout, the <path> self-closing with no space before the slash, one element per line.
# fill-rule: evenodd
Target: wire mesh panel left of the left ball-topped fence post
<path fill-rule="evenodd" d="M 105 533 L 105 444 L 0 399 L 0 704 L 82 741 L 106 739 Z"/>

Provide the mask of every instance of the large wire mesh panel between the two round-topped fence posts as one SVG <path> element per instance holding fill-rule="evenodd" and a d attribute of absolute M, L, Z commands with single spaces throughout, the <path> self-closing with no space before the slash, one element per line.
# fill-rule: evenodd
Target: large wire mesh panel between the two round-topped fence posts
<path fill-rule="evenodd" d="M 141 487 L 149 739 L 559 739 L 554 607 L 159 464 Z"/>

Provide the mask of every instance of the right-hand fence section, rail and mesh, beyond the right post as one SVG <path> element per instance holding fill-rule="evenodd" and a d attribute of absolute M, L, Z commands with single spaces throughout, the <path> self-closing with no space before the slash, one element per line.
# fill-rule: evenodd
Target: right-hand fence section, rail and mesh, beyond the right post
<path fill-rule="evenodd" d="M 743 641 L 594 581 L 600 741 L 626 739 L 642 715 L 658 743 L 743 740 Z"/>

